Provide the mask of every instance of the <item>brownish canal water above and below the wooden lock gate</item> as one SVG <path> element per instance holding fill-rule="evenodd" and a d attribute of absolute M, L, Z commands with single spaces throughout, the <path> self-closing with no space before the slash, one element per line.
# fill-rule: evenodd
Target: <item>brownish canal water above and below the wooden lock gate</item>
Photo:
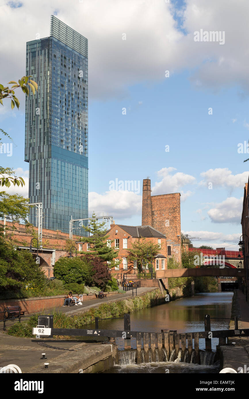
<path fill-rule="evenodd" d="M 229 328 L 233 292 L 200 293 L 192 297 L 139 310 L 130 314 L 131 330 L 142 332 L 161 332 L 161 329 L 177 330 L 177 333 L 204 331 L 204 316 L 211 318 L 211 330 Z M 85 328 L 94 328 L 91 324 Z M 123 319 L 100 320 L 103 330 L 123 330 Z M 116 338 L 118 348 L 124 349 L 124 340 Z M 212 339 L 212 349 L 216 349 L 218 339 Z M 131 338 L 131 348 L 135 339 Z M 205 349 L 205 340 L 199 340 L 199 348 Z M 115 365 L 108 373 L 217 373 L 217 366 L 189 363 L 145 363 L 141 365 Z"/>

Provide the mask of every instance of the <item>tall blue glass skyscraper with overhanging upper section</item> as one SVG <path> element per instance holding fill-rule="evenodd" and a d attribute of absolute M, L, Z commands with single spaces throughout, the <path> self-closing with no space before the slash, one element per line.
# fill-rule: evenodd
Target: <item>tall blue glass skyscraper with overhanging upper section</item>
<path fill-rule="evenodd" d="M 43 227 L 69 233 L 71 215 L 88 217 L 88 40 L 51 16 L 50 37 L 26 44 L 26 75 L 38 84 L 26 96 L 30 203 L 42 202 Z"/>

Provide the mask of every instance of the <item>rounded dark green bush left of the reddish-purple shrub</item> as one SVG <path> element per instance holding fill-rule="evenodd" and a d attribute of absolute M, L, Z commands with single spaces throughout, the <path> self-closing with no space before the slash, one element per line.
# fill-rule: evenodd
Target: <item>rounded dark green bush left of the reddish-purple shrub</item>
<path fill-rule="evenodd" d="M 93 274 L 90 263 L 84 262 L 80 257 L 60 258 L 54 265 L 54 276 L 65 284 L 91 284 Z"/>

